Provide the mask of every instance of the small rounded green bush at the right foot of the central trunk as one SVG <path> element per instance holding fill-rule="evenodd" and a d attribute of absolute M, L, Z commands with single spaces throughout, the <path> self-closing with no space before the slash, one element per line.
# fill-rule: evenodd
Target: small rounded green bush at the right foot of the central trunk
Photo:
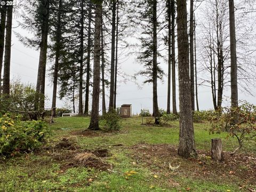
<path fill-rule="evenodd" d="M 121 129 L 122 118 L 116 110 L 110 110 L 100 119 L 100 124 L 105 131 L 118 131 Z"/>

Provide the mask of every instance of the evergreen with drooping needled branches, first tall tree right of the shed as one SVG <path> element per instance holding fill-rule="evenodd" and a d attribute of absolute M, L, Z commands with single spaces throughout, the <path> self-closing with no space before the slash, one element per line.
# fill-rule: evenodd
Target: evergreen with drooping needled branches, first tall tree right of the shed
<path fill-rule="evenodd" d="M 139 71 L 138 74 L 145 76 L 144 83 L 153 84 L 153 115 L 159 116 L 157 102 L 157 78 L 162 79 L 164 71 L 159 67 L 157 62 L 157 1 L 143 0 L 139 3 L 140 6 L 140 21 L 143 29 L 140 37 L 142 51 L 139 53 L 138 60 L 143 63 L 145 70 Z"/>

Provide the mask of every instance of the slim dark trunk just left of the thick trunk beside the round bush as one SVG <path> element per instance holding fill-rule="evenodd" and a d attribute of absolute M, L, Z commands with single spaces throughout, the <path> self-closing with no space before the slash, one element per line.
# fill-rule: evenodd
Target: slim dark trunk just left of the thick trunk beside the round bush
<path fill-rule="evenodd" d="M 84 114 L 89 115 L 89 87 L 91 74 L 91 20 L 92 20 L 92 4 L 89 2 L 88 7 L 88 45 L 87 45 L 87 66 L 86 66 L 86 86 L 85 86 L 85 108 Z"/>

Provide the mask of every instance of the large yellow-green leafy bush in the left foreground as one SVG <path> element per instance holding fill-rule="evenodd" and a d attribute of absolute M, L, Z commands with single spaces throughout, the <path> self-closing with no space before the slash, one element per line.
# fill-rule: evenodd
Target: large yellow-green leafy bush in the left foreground
<path fill-rule="evenodd" d="M 49 136 L 49 129 L 42 121 L 20 121 L 9 114 L 0 117 L 0 155 L 14 156 L 37 149 Z"/>

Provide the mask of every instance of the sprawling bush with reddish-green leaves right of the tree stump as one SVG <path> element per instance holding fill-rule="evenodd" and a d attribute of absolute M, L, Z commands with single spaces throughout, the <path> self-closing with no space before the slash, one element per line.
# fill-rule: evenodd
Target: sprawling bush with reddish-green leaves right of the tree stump
<path fill-rule="evenodd" d="M 243 146 L 245 141 L 256 140 L 256 106 L 250 103 L 235 108 L 223 107 L 216 111 L 211 118 L 210 133 L 227 132 L 228 137 L 236 138 L 239 147 L 232 154 Z"/>

